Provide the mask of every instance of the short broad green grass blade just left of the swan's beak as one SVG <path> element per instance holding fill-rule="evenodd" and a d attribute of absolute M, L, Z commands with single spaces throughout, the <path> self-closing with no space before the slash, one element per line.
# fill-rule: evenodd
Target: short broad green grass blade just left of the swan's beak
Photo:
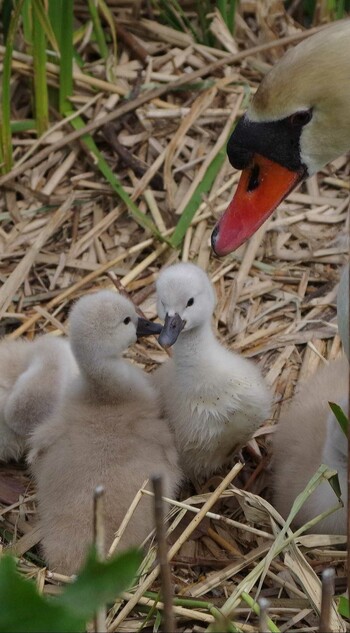
<path fill-rule="evenodd" d="M 210 188 L 222 165 L 224 164 L 225 159 L 226 149 L 225 147 L 222 147 L 208 166 L 204 178 L 198 185 L 197 189 L 193 193 L 191 200 L 188 202 L 181 214 L 181 217 L 176 225 L 176 229 L 170 239 L 170 244 L 171 246 L 173 246 L 173 248 L 177 248 L 181 244 L 185 233 L 190 226 L 199 205 L 202 202 L 203 194 L 210 191 Z"/>

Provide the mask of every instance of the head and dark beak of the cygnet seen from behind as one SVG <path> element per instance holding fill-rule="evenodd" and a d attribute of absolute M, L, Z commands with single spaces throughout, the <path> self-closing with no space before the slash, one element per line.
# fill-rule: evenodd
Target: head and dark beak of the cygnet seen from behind
<path fill-rule="evenodd" d="M 111 290 L 79 299 L 69 323 L 74 355 L 86 369 L 98 359 L 120 356 L 138 337 L 161 330 L 158 324 L 138 317 L 131 301 Z"/>

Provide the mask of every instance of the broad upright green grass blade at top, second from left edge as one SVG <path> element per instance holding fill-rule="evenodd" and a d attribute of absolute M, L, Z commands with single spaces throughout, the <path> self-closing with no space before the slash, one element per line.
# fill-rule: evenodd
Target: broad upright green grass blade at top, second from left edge
<path fill-rule="evenodd" d="M 33 71 L 36 126 L 39 136 L 49 126 L 49 100 L 46 80 L 46 35 L 40 19 L 41 0 L 32 0 Z"/>

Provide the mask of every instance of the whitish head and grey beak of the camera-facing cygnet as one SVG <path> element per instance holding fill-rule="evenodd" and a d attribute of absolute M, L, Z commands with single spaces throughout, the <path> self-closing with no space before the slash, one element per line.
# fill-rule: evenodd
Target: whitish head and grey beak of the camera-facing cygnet
<path fill-rule="evenodd" d="M 157 310 L 164 327 L 163 347 L 175 343 L 180 332 L 210 323 L 215 307 L 214 288 L 206 273 L 194 264 L 174 264 L 162 271 L 156 283 Z"/>

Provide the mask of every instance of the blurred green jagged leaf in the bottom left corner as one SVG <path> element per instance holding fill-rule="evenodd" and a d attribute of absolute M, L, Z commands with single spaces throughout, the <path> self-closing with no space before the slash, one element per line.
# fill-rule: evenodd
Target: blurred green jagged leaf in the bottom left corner
<path fill-rule="evenodd" d="M 132 584 L 142 555 L 130 550 L 99 561 L 95 549 L 76 580 L 55 597 L 39 594 L 35 582 L 18 573 L 15 560 L 0 559 L 0 633 L 79 633 L 96 610 Z"/>

